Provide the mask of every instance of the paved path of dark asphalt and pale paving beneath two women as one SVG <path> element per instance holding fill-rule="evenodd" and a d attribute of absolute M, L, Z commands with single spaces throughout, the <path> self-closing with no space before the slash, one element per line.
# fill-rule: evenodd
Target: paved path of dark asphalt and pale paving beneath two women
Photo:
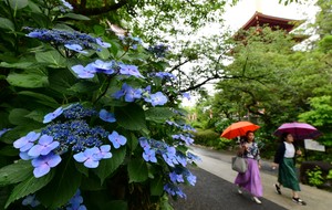
<path fill-rule="evenodd" d="M 234 179 L 236 171 L 230 169 L 231 154 L 224 154 L 201 147 L 191 147 L 191 151 L 201 158 L 199 168 L 191 171 L 197 176 L 195 187 L 185 188 L 187 199 L 172 201 L 177 210 L 250 210 L 250 209 L 292 209 L 292 210 L 330 210 L 332 193 L 314 187 L 300 185 L 300 197 L 308 206 L 299 206 L 291 200 L 291 190 L 282 188 L 282 195 L 274 192 L 273 183 L 277 171 L 272 170 L 269 161 L 262 161 L 261 179 L 263 185 L 262 204 L 250 199 L 249 193 L 238 195 Z M 220 179 L 221 178 L 221 179 Z"/>

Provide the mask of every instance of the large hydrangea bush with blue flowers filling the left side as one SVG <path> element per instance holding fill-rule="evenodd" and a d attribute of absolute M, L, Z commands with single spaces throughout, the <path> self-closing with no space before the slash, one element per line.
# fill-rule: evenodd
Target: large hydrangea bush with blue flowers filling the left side
<path fill-rule="evenodd" d="M 199 158 L 178 107 L 188 95 L 165 72 L 169 48 L 55 24 L 86 19 L 63 0 L 1 7 L 17 14 L 0 20 L 13 40 L 0 55 L 1 208 L 172 209 L 169 197 L 186 198 Z"/>

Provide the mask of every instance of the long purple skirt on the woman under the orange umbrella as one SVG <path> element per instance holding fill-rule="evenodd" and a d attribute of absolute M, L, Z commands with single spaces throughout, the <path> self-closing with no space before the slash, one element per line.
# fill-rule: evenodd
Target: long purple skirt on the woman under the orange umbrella
<path fill-rule="evenodd" d="M 245 190 L 249 191 L 252 196 L 262 197 L 262 185 L 258 168 L 258 161 L 252 158 L 247 158 L 248 170 L 243 174 L 239 172 L 235 183 Z"/>

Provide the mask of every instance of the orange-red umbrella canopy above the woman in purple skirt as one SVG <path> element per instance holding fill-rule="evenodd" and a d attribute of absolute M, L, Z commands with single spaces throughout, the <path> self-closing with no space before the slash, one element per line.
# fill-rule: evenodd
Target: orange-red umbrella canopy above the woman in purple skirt
<path fill-rule="evenodd" d="M 237 136 L 245 136 L 248 130 L 255 132 L 260 126 L 255 125 L 250 122 L 238 122 L 228 126 L 221 134 L 221 137 L 232 139 Z"/>

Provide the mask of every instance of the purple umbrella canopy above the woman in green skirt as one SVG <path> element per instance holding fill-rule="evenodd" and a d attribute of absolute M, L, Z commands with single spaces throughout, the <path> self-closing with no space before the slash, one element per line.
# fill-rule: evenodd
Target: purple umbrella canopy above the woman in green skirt
<path fill-rule="evenodd" d="M 282 124 L 273 134 L 276 136 L 281 136 L 283 133 L 290 133 L 294 139 L 298 140 L 317 138 L 322 135 L 322 133 L 312 125 L 297 122 Z"/>

